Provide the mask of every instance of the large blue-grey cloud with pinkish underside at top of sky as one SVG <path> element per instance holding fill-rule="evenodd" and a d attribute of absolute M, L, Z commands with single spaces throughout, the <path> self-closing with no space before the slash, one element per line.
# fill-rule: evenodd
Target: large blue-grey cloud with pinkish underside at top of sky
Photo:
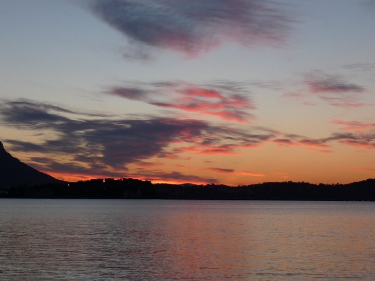
<path fill-rule="evenodd" d="M 279 44 L 291 18 L 269 0 L 93 0 L 88 9 L 130 40 L 189 55 L 223 40 Z"/>

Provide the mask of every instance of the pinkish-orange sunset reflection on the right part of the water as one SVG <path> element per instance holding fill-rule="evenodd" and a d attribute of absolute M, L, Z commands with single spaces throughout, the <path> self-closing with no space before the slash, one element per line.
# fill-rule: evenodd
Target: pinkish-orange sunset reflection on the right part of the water
<path fill-rule="evenodd" d="M 368 239 L 375 227 L 373 216 L 334 212 L 334 206 L 320 210 L 319 205 L 248 208 L 251 203 L 241 202 L 233 212 L 225 203 L 216 208 L 208 201 L 206 208 L 184 205 L 181 212 L 165 217 L 160 223 L 168 241 L 169 276 L 268 280 L 272 273 L 277 280 L 306 275 L 346 278 L 374 265 L 370 253 L 375 252 L 375 242 Z"/>

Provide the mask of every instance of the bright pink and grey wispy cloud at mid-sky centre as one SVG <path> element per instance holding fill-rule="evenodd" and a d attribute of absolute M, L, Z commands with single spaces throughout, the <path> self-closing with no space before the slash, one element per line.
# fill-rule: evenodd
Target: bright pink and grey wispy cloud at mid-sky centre
<path fill-rule="evenodd" d="M 226 121 L 249 123 L 255 116 L 250 92 L 240 83 L 218 81 L 194 85 L 182 82 L 137 83 L 113 87 L 109 95 L 143 101 L 164 108 L 211 115 Z"/>

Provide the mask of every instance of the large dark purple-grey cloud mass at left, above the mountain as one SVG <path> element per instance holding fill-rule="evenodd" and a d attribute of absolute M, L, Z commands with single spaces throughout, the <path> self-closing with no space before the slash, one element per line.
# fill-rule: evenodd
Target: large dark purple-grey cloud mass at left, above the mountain
<path fill-rule="evenodd" d="M 46 140 L 42 145 L 15 142 L 14 149 L 35 152 L 64 152 L 98 157 L 108 165 L 124 165 L 146 159 L 162 152 L 169 143 L 200 136 L 209 126 L 197 120 L 155 118 L 133 119 L 80 119 L 59 115 L 60 108 L 47 104 L 8 102 L 0 108 L 4 124 L 34 130 L 52 130 L 59 139 Z M 185 137 L 183 137 L 185 136 Z M 93 157 L 93 155 L 100 155 Z"/>

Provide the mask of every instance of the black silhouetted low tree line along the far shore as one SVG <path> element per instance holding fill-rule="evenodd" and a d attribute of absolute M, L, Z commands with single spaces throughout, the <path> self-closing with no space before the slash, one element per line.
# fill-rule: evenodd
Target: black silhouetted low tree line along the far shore
<path fill-rule="evenodd" d="M 0 196 L 6 198 L 375 201 L 375 179 L 349 184 L 311 184 L 287 181 L 234 187 L 223 184 L 152 184 L 151 181 L 132 178 L 117 180 L 107 178 L 16 186 Z"/>

